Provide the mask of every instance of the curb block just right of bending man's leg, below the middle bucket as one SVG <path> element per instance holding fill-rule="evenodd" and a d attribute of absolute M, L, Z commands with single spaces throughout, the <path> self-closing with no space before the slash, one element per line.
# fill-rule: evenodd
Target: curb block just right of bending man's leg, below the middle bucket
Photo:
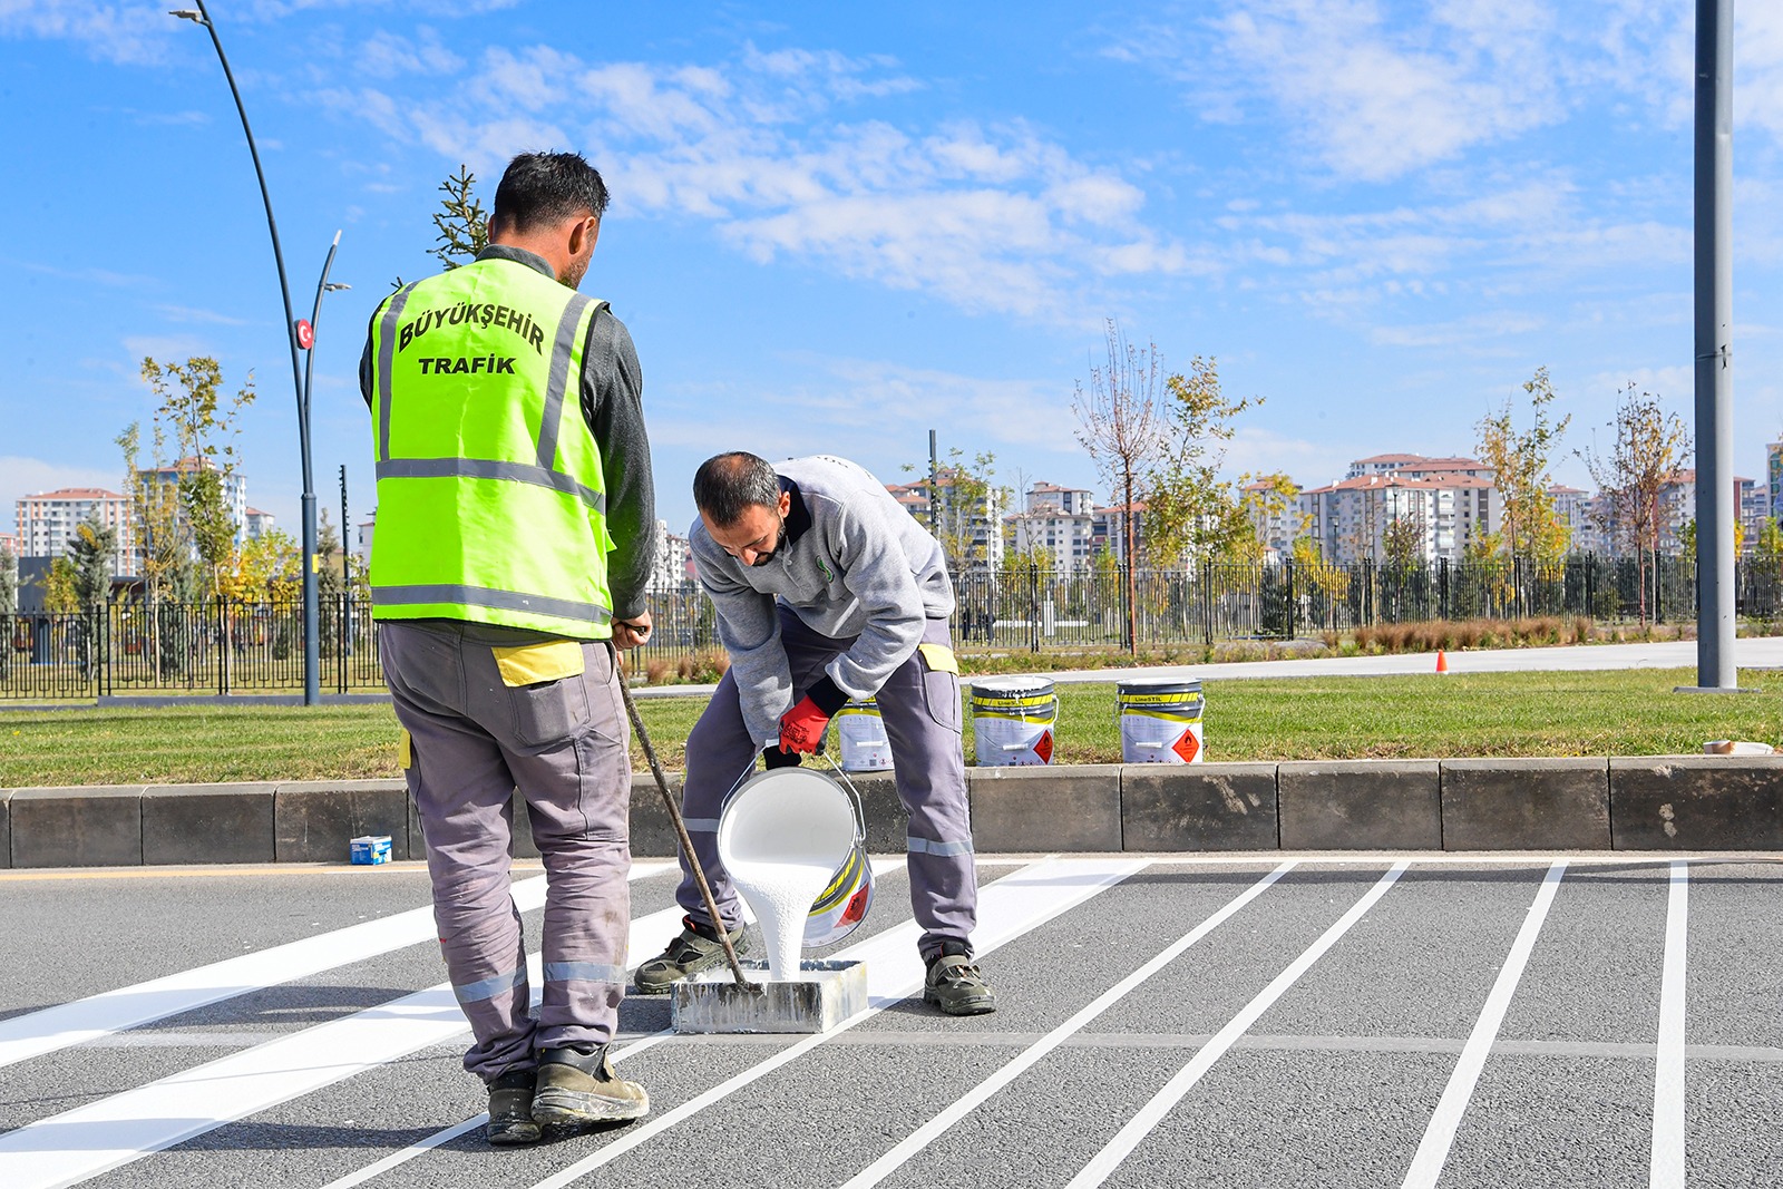
<path fill-rule="evenodd" d="M 1122 765 L 966 768 L 966 788 L 979 852 L 1122 849 Z"/>

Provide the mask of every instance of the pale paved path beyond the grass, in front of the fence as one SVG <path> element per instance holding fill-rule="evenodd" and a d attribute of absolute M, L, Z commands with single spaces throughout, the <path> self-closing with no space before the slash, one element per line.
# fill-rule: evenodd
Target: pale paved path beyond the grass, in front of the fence
<path fill-rule="evenodd" d="M 1783 636 L 1737 640 L 1733 660 L 1740 668 L 1783 668 Z M 1245 681 L 1250 677 L 1384 677 L 1425 674 L 1435 668 L 1432 652 L 1393 656 L 1314 656 L 1280 661 L 1234 661 L 1227 665 L 1146 665 L 1138 668 L 1068 668 L 1036 672 L 1057 685 L 1132 681 Z M 1451 674 L 1469 672 L 1592 672 L 1605 668 L 1696 668 L 1696 640 L 1664 644 L 1574 644 L 1548 649 L 1480 649 L 1450 652 Z M 998 674 L 1013 676 L 1013 674 Z M 972 685 L 972 679 L 963 679 Z M 710 685 L 669 685 L 635 690 L 637 697 L 710 697 Z"/>

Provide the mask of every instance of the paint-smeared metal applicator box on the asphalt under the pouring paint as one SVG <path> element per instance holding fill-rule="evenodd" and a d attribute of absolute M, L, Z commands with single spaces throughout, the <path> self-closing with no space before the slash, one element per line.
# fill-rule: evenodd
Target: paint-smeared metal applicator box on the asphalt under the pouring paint
<path fill-rule="evenodd" d="M 754 988 L 727 966 L 674 984 L 676 1032 L 829 1032 L 867 1011 L 867 963 L 808 961 L 799 979 L 767 982 L 765 963 L 744 963 Z"/>

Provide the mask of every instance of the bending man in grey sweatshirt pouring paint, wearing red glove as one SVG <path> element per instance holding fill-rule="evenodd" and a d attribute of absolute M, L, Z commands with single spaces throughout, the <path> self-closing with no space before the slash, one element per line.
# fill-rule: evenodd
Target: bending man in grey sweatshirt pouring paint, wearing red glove
<path fill-rule="evenodd" d="M 744 939 L 715 834 L 738 775 L 758 752 L 770 768 L 799 763 L 850 697 L 877 697 L 909 813 L 924 1000 L 956 1016 L 995 1011 L 997 996 L 972 961 L 977 873 L 959 667 L 947 636 L 954 588 L 941 545 L 879 480 L 824 455 L 777 465 L 742 451 L 719 455 L 694 478 L 694 503 L 699 521 L 688 544 L 731 668 L 688 736 L 683 809 L 724 920 L 706 920 L 685 875 L 685 929 L 637 970 L 638 989 L 658 991 L 724 961 L 719 929 L 733 945 Z M 681 866 L 686 872 L 685 857 Z"/>

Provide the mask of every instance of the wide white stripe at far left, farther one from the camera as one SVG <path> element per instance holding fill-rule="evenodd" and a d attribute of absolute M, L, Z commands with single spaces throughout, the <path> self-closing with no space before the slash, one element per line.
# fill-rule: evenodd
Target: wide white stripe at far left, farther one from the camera
<path fill-rule="evenodd" d="M 631 877 L 658 875 L 670 866 L 674 865 L 635 863 Z M 544 900 L 544 877 L 514 884 L 514 902 L 522 913 L 537 909 Z M 419 907 L 0 1020 L 0 1068 L 237 995 L 366 961 L 433 936 L 433 909 Z"/>

